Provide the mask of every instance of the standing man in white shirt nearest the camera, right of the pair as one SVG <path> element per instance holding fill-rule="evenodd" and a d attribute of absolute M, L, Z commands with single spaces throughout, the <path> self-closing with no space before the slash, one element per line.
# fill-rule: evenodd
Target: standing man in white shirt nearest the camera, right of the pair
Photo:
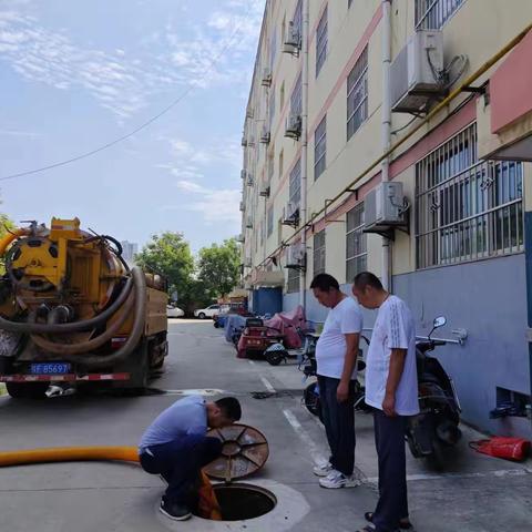
<path fill-rule="evenodd" d="M 405 301 L 386 291 L 374 274 L 358 274 L 352 294 L 364 307 L 379 309 L 366 358 L 366 403 L 375 408 L 380 497 L 375 512 L 365 514 L 372 525 L 362 530 L 395 532 L 411 528 L 405 431 L 408 416 L 419 413 L 416 328 Z"/>

